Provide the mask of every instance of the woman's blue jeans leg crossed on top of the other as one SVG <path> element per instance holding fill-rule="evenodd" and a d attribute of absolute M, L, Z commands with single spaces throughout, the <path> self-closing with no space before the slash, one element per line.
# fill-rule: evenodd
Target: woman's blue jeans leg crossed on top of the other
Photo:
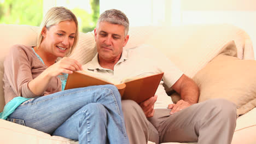
<path fill-rule="evenodd" d="M 90 103 L 99 103 L 106 108 L 109 118 L 113 119 L 109 121 L 111 127 L 107 127 L 108 131 L 117 131 L 114 137 L 128 142 L 120 94 L 113 85 L 68 89 L 34 98 L 20 105 L 8 118 L 22 119 L 27 127 L 52 134 L 75 112 Z"/>

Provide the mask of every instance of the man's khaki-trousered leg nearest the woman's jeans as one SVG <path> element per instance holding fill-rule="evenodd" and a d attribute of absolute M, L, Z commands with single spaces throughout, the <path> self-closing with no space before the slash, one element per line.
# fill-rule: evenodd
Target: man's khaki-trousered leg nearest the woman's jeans
<path fill-rule="evenodd" d="M 141 107 L 132 100 L 122 100 L 125 127 L 131 144 L 159 141 L 158 131 L 148 122 Z"/>

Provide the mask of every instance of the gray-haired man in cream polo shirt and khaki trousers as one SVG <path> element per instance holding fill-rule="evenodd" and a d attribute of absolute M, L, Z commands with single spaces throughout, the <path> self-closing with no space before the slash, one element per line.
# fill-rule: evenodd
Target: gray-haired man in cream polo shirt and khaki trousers
<path fill-rule="evenodd" d="M 164 55 L 148 57 L 150 46 L 123 49 L 129 40 L 129 20 L 119 10 L 106 10 L 94 29 L 97 55 L 83 69 L 122 80 L 144 74 L 164 72 L 156 95 L 137 104 L 122 100 L 126 131 L 133 144 L 162 142 L 231 143 L 236 127 L 236 106 L 226 100 L 198 103 L 199 88 Z M 155 58 L 156 55 L 160 57 Z M 155 59 L 154 59 L 155 58 Z M 156 62 L 157 61 L 157 62 Z M 160 62 L 160 63 L 159 63 Z M 181 95 L 168 109 L 154 109 L 168 95 L 163 83 Z M 156 101 L 158 100 L 158 101 Z"/>

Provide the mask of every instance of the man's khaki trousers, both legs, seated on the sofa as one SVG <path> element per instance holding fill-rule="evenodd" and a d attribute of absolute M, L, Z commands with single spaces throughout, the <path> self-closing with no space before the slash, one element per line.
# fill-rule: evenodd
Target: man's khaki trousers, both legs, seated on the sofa
<path fill-rule="evenodd" d="M 141 107 L 123 100 L 122 108 L 130 143 L 197 142 L 228 144 L 236 127 L 236 105 L 224 99 L 194 104 L 173 115 L 170 109 L 155 109 L 146 118 Z"/>

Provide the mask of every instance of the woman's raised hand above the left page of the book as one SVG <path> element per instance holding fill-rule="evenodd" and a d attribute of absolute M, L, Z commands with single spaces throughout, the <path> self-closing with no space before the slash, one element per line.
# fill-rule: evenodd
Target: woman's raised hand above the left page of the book
<path fill-rule="evenodd" d="M 75 70 L 82 70 L 82 65 L 75 59 L 63 57 L 60 61 L 47 68 L 44 72 L 49 77 L 54 77 L 61 73 L 72 74 Z"/>

